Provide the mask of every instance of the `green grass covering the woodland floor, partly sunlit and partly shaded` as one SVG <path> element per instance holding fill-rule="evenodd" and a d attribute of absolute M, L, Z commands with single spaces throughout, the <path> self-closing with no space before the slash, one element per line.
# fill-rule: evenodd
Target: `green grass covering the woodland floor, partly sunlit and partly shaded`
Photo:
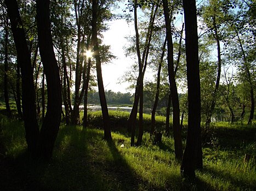
<path fill-rule="evenodd" d="M 95 122 L 100 114 L 90 114 Z M 255 190 L 256 142 L 252 127 L 211 127 L 211 139 L 203 147 L 203 170 L 188 182 L 180 176 L 175 161 L 174 141 L 163 135 L 153 145 L 149 133 L 143 146 L 130 147 L 130 138 L 118 128 L 127 120 L 126 112 L 110 111 L 113 144 L 103 140 L 103 130 L 79 126 L 60 127 L 53 158 L 49 163 L 29 159 L 23 124 L 1 117 L 4 154 L 15 169 L 22 188 L 31 190 Z M 145 115 L 145 121 L 149 116 Z M 161 117 L 157 122 L 161 124 Z M 159 120 L 159 121 L 158 121 Z M 115 122 L 116 121 L 116 122 Z M 90 121 L 91 125 L 93 121 Z M 146 124 L 145 124 L 146 125 Z M 184 128 L 185 131 L 185 128 Z M 121 131 L 122 132 L 122 131 Z M 183 140 L 185 142 L 185 138 Z M 121 147 L 123 146 L 123 147 Z M 244 154 L 251 154 L 244 163 Z M 8 177 L 8 176 L 7 176 Z M 15 178 L 12 178 L 15 180 Z M 6 180 L 7 183 L 12 183 Z M 16 181 L 17 182 L 17 181 Z M 15 181 L 14 181 L 15 184 Z M 1 186 L 1 185 L 0 185 Z M 11 185 L 12 186 L 12 185 Z"/>

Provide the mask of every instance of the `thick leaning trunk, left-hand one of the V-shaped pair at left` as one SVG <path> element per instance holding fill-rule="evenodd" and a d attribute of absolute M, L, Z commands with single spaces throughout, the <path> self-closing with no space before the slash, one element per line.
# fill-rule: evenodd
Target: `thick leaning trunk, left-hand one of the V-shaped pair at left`
<path fill-rule="evenodd" d="M 35 86 L 33 84 L 33 70 L 30 53 L 27 46 L 24 27 L 20 19 L 19 7 L 15 0 L 5 0 L 7 13 L 12 26 L 13 38 L 22 75 L 22 111 L 26 131 L 27 150 L 32 156 L 37 151 L 39 128 L 36 119 Z"/>

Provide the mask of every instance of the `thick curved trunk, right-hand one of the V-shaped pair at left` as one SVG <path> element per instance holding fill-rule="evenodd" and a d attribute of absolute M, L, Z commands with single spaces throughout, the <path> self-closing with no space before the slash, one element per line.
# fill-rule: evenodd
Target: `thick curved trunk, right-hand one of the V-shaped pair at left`
<path fill-rule="evenodd" d="M 39 52 L 47 81 L 47 112 L 39 136 L 38 157 L 52 157 L 61 119 L 61 85 L 58 64 L 50 33 L 49 0 L 37 0 L 37 32 Z"/>

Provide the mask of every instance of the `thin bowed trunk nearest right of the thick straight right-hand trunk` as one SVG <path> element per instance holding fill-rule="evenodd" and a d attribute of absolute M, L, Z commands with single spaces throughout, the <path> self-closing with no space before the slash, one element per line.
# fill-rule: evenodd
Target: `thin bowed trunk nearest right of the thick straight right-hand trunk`
<path fill-rule="evenodd" d="M 209 108 L 209 112 L 206 116 L 206 124 L 205 124 L 206 128 L 210 127 L 210 124 L 211 124 L 211 121 L 212 121 L 212 115 L 213 115 L 213 111 L 214 111 L 215 103 L 216 103 L 216 99 L 217 99 L 217 93 L 218 93 L 219 83 L 220 83 L 220 74 L 221 74 L 220 39 L 219 39 L 219 34 L 218 34 L 218 29 L 217 29 L 215 17 L 213 17 L 213 28 L 214 28 L 215 40 L 217 42 L 218 73 L 217 73 L 217 80 L 216 80 L 216 83 L 215 83 L 215 89 L 214 89 L 214 92 L 213 92 L 212 104 L 211 104 L 211 106 Z"/>

